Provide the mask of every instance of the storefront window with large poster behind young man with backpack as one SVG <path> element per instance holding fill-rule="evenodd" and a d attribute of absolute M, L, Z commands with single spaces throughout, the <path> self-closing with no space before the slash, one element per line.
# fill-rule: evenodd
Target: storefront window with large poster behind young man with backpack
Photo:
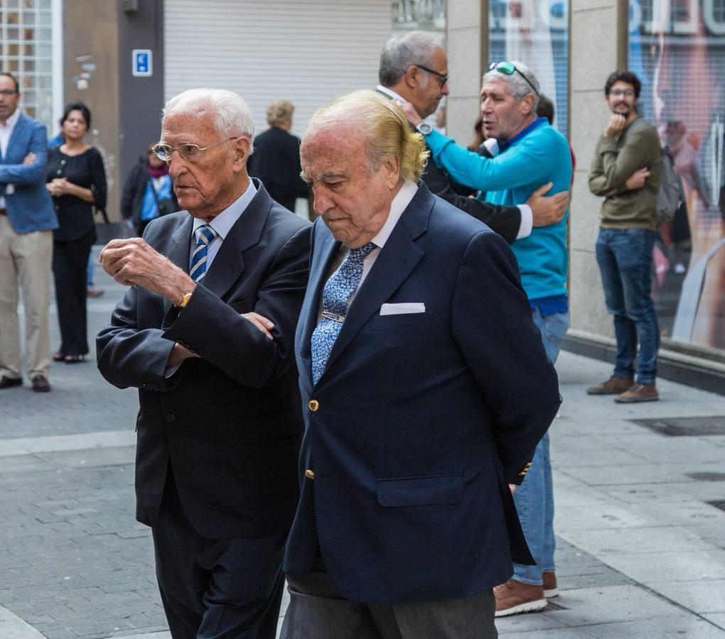
<path fill-rule="evenodd" d="M 684 189 L 655 248 L 662 336 L 725 350 L 725 0 L 630 0 L 629 68 Z"/>

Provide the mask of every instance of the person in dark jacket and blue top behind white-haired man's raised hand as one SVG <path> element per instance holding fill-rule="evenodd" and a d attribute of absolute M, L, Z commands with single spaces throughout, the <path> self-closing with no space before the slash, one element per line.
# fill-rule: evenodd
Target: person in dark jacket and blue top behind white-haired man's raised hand
<path fill-rule="evenodd" d="M 121 196 L 121 217 L 133 225 L 139 237 L 151 220 L 178 211 L 169 167 L 154 153 L 155 142 L 146 149 L 146 156 L 128 174 Z"/>

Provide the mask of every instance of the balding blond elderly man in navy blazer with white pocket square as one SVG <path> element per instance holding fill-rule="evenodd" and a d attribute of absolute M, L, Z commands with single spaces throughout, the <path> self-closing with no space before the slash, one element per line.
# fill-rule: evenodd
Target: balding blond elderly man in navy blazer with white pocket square
<path fill-rule="evenodd" d="M 371 91 L 320 109 L 302 143 L 321 219 L 283 639 L 495 637 L 492 588 L 531 562 L 510 485 L 557 376 L 507 243 L 431 195 L 425 158 Z"/>

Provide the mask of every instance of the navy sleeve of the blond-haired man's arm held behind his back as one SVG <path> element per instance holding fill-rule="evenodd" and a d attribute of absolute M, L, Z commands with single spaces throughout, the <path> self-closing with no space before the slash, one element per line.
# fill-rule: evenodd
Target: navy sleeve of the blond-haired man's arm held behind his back
<path fill-rule="evenodd" d="M 560 395 L 515 256 L 497 235 L 481 232 L 468 245 L 451 316 L 455 339 L 493 415 L 504 480 L 520 484 Z"/>

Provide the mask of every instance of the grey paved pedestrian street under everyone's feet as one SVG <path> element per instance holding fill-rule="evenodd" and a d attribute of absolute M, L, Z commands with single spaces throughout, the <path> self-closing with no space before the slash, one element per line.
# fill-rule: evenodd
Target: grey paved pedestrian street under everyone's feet
<path fill-rule="evenodd" d="M 98 268 L 96 284 L 91 335 L 123 290 Z M 725 511 L 708 504 L 725 503 L 725 398 L 662 381 L 661 401 L 619 406 L 584 393 L 608 365 L 563 353 L 558 369 L 561 594 L 500 636 L 725 639 Z M 53 364 L 51 383 L 0 391 L 0 639 L 168 639 L 134 518 L 136 393 L 93 362 Z"/>

